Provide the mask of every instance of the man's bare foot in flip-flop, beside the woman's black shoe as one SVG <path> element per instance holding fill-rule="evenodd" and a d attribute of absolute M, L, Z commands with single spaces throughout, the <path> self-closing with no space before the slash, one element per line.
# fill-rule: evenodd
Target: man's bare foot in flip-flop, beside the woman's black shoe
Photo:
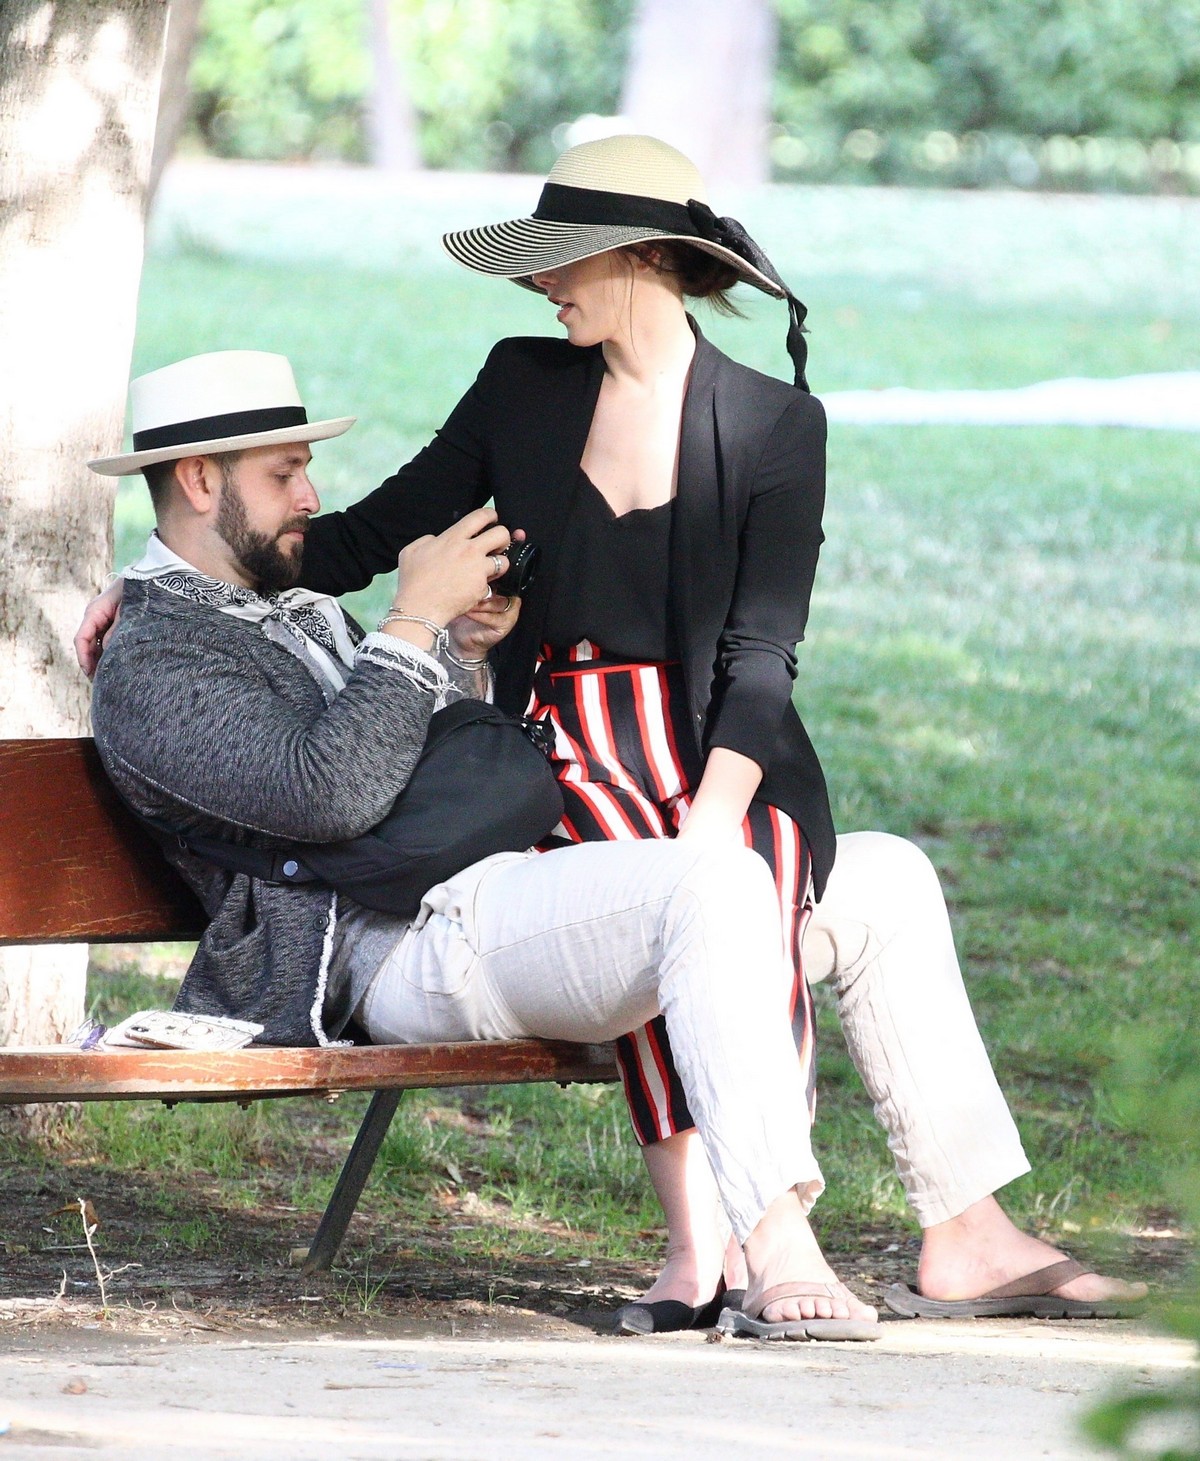
<path fill-rule="evenodd" d="M 855 1299 L 824 1261 L 794 1189 L 770 1204 L 747 1237 L 745 1262 L 750 1270 L 745 1312 L 767 1324 L 794 1319 L 861 1319 L 873 1324 L 878 1318 L 876 1309 Z M 785 1294 L 763 1306 L 763 1294 L 792 1286 L 817 1286 L 824 1292 Z"/>

